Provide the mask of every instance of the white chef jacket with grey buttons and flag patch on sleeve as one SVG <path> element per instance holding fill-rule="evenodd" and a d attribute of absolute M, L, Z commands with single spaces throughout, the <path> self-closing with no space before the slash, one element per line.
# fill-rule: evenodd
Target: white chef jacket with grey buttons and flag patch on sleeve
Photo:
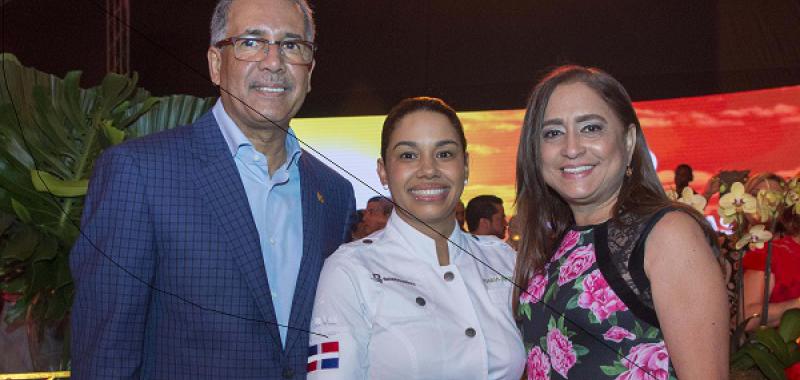
<path fill-rule="evenodd" d="M 461 248 L 507 278 L 516 253 L 457 226 L 450 240 L 440 266 L 433 239 L 392 213 L 384 230 L 339 247 L 320 274 L 308 378 L 519 379 L 512 284 Z"/>

